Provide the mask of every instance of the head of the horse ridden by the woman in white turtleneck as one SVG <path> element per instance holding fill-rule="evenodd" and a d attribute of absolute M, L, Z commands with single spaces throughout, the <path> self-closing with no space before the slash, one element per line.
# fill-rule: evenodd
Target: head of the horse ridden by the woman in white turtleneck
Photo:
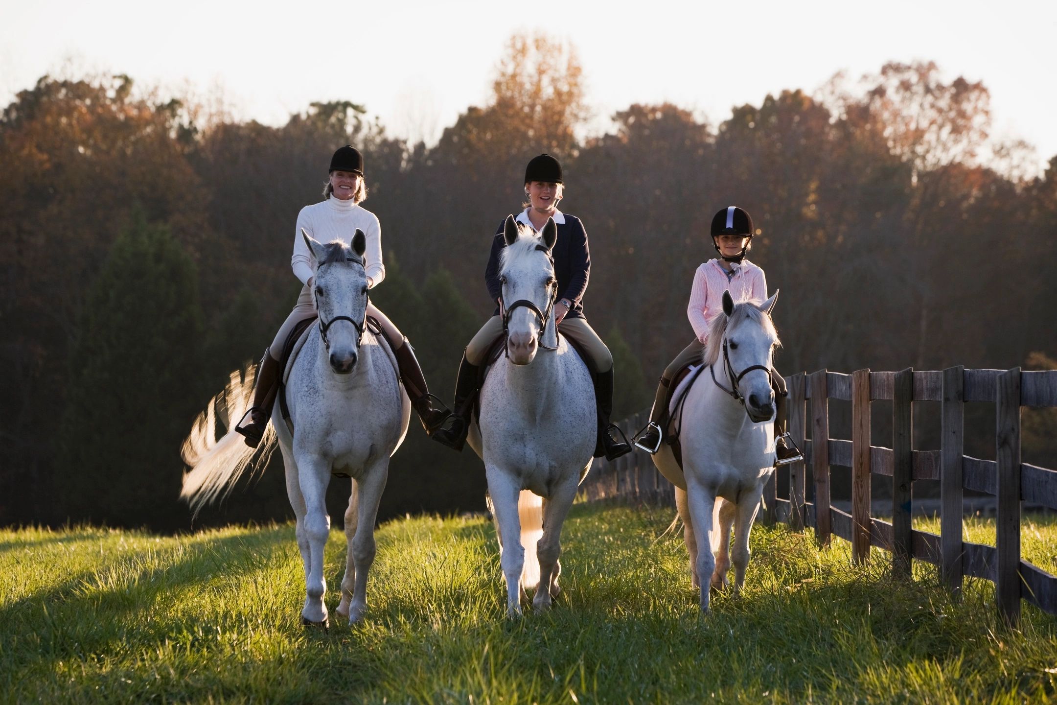
<path fill-rule="evenodd" d="M 312 297 L 319 314 L 319 335 L 331 368 L 349 374 L 356 366 L 367 318 L 367 272 L 364 252 L 367 238 L 356 228 L 352 247 L 340 240 L 322 244 L 301 228 L 304 242 L 316 258 Z"/>

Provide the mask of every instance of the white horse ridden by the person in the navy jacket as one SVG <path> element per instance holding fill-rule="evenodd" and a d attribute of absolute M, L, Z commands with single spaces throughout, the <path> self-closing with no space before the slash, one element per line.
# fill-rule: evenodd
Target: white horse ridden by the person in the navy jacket
<path fill-rule="evenodd" d="M 506 218 L 500 263 L 506 347 L 481 389 L 479 427 L 469 433 L 484 460 L 512 617 L 521 614 L 526 589 L 536 588 L 537 611 L 559 592 L 561 524 L 597 439 L 591 374 L 558 338 L 552 316 L 557 237 L 553 220 L 536 237 Z"/>

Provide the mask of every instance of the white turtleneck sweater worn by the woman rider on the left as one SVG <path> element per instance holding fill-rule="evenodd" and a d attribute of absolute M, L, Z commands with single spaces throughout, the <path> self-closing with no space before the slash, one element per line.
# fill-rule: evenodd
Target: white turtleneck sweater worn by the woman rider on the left
<path fill-rule="evenodd" d="M 377 286 L 386 278 L 386 267 L 382 263 L 382 225 L 378 218 L 366 210 L 352 199 L 342 201 L 333 196 L 326 201 L 314 203 L 301 208 L 297 215 L 297 228 L 294 233 L 294 256 L 290 264 L 298 279 L 305 286 L 316 268 L 316 258 L 301 237 L 301 228 L 322 243 L 340 240 L 347 245 L 352 244 L 352 236 L 358 227 L 367 236 L 367 252 L 364 253 L 367 276 L 371 286 Z"/>

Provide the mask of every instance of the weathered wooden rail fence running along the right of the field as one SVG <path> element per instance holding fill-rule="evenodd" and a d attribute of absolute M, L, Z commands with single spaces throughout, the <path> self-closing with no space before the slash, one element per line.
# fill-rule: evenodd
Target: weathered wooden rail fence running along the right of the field
<path fill-rule="evenodd" d="M 1057 371 L 966 370 L 871 372 L 841 374 L 820 370 L 786 378 L 790 389 L 790 431 L 804 449 L 804 462 L 789 467 L 790 496 L 777 496 L 773 475 L 764 489 L 765 520 L 784 520 L 794 530 L 813 526 L 820 544 L 836 535 L 851 542 L 855 561 L 865 561 L 871 546 L 892 554 L 896 574 L 909 575 L 911 559 L 938 565 L 943 580 L 959 591 L 963 576 L 996 583 L 998 608 L 1010 624 L 1026 599 L 1057 615 L 1057 577 L 1020 557 L 1021 502 L 1057 509 L 1057 471 L 1022 463 L 1020 407 L 1057 407 Z M 830 438 L 829 400 L 852 405 L 851 441 Z M 870 445 L 870 403 L 892 402 L 892 447 Z M 913 403 L 940 402 L 942 441 L 939 450 L 914 450 Z M 996 459 L 964 454 L 963 418 L 967 402 L 996 405 Z M 618 425 L 630 437 L 646 423 L 649 411 Z M 811 439 L 806 438 L 810 430 Z M 1057 429 L 1053 429 L 1057 432 Z M 824 439 L 826 443 L 815 443 Z M 806 501 L 806 464 L 811 465 L 814 502 Z M 851 514 L 832 506 L 830 469 L 852 471 Z M 870 516 L 870 478 L 891 478 L 891 523 Z M 940 534 L 911 526 L 914 480 L 940 481 Z M 970 489 L 997 498 L 996 544 L 962 540 L 963 493 Z M 588 501 L 622 498 L 674 505 L 674 489 L 646 453 L 634 452 L 609 463 L 595 463 L 581 485 Z"/>

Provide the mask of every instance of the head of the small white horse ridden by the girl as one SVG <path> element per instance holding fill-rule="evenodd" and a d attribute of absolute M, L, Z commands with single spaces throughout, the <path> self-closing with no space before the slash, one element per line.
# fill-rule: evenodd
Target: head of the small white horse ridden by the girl
<path fill-rule="evenodd" d="M 736 395 L 745 402 L 745 411 L 755 423 L 775 414 L 775 394 L 771 389 L 772 357 L 779 345 L 771 312 L 778 292 L 763 302 L 738 303 L 730 292 L 723 292 L 723 315 L 712 321 L 705 361 L 722 365 Z"/>

